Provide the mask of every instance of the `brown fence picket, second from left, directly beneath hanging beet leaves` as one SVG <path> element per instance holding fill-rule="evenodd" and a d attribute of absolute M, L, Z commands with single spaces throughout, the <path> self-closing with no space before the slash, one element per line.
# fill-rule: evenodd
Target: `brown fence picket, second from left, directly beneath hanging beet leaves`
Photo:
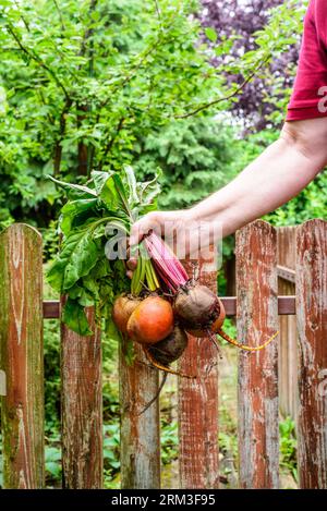
<path fill-rule="evenodd" d="M 61 325 L 63 487 L 71 489 L 102 488 L 101 338 L 94 309 L 86 314 L 92 337 Z"/>

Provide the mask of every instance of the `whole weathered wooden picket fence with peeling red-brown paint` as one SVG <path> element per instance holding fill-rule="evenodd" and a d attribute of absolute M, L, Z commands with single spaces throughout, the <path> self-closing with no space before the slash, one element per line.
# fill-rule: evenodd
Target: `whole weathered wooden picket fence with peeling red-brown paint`
<path fill-rule="evenodd" d="M 327 222 L 308 221 L 292 235 L 292 263 L 287 248 L 282 257 L 284 266 L 294 268 L 295 295 L 280 287 L 279 293 L 287 295 L 278 296 L 282 231 L 277 234 L 268 223 L 256 221 L 237 234 L 237 296 L 223 299 L 227 314 L 237 316 L 238 337 L 244 342 L 259 344 L 279 329 L 279 319 L 290 316 L 296 318 L 299 332 L 298 364 L 295 356 L 289 356 L 290 350 L 288 357 L 283 356 L 287 330 L 294 328 L 287 323 L 281 325 L 280 350 L 278 342 L 272 342 L 262 352 L 239 354 L 241 488 L 278 488 L 279 394 L 281 406 L 290 410 L 294 405 L 286 403 L 295 399 L 294 385 L 299 396 L 293 410 L 298 413 L 300 487 L 327 488 Z M 0 393 L 7 488 L 40 488 L 45 484 L 43 320 L 59 318 L 61 304 L 43 300 L 41 252 L 41 238 L 28 226 L 13 224 L 0 234 Z M 211 259 L 185 264 L 190 273 L 215 289 Z M 92 309 L 88 315 L 94 321 Z M 159 488 L 158 403 L 140 415 L 158 388 L 158 373 L 141 363 L 128 366 L 123 351 L 121 346 L 122 487 Z M 136 351 L 142 362 L 143 355 Z M 217 363 L 209 342 L 190 338 L 180 366 L 196 372 L 198 378 L 179 379 L 177 487 L 219 485 Z M 61 387 L 63 487 L 101 488 L 98 330 L 90 338 L 80 338 L 62 326 Z"/>

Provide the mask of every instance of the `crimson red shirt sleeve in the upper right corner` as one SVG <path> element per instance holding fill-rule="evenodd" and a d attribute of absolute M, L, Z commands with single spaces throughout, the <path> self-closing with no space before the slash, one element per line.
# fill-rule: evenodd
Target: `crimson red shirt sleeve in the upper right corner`
<path fill-rule="evenodd" d="M 287 121 L 327 117 L 327 0 L 311 0 Z"/>

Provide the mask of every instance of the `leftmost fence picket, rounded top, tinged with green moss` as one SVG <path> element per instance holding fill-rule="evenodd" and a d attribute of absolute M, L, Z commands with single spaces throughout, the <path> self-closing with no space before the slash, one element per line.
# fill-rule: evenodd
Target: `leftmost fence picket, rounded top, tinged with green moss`
<path fill-rule="evenodd" d="M 41 488 L 44 461 L 43 246 L 33 228 L 0 234 L 3 485 Z"/>

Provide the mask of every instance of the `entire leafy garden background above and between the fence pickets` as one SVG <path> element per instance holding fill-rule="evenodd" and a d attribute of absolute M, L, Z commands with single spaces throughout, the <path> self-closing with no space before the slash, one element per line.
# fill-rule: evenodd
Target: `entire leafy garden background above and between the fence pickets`
<path fill-rule="evenodd" d="M 162 171 L 161 209 L 190 207 L 279 136 L 296 70 L 301 0 L 1 0 L 0 230 L 37 227 L 45 268 L 58 248 L 62 192 L 93 169 Z M 325 217 L 327 177 L 270 214 L 275 226 Z M 233 238 L 220 294 L 232 293 Z M 57 297 L 46 287 L 45 299 Z M 233 332 L 233 324 L 228 323 Z M 117 340 L 104 337 L 105 484 L 119 487 Z M 60 342 L 45 323 L 47 485 L 60 486 Z M 235 351 L 220 372 L 221 476 L 237 471 Z M 161 396 L 162 487 L 173 485 L 175 381 Z M 281 417 L 284 487 L 296 487 L 294 425 Z"/>

